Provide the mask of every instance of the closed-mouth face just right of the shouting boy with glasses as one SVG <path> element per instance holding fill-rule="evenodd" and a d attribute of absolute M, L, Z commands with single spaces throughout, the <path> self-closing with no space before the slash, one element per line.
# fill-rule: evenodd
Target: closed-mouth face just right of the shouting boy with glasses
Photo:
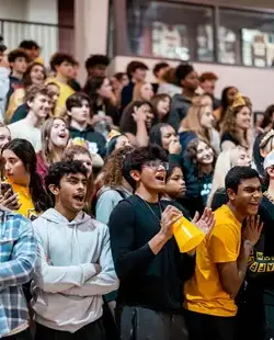
<path fill-rule="evenodd" d="M 182 169 L 176 167 L 173 169 L 165 184 L 165 194 L 172 200 L 182 199 L 185 194 L 185 181 Z"/>

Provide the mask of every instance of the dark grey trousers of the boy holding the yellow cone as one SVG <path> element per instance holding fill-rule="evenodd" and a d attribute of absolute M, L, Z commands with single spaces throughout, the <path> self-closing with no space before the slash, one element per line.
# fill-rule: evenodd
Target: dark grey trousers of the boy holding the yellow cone
<path fill-rule="evenodd" d="M 189 340 L 184 317 L 142 307 L 119 306 L 121 340 Z"/>

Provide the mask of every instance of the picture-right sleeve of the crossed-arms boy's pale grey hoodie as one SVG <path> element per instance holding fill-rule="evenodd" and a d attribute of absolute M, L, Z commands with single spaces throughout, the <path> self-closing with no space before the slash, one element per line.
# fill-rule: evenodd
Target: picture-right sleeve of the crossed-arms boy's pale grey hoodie
<path fill-rule="evenodd" d="M 104 226 L 102 250 L 99 259 L 101 272 L 87 280 L 81 287 L 72 287 L 64 294 L 78 296 L 105 295 L 118 288 L 118 279 L 114 270 L 109 228 Z"/>

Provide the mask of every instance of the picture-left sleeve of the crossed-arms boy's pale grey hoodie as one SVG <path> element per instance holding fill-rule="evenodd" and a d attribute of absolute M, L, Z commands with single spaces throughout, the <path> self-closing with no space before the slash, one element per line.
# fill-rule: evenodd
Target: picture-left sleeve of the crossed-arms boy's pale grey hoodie
<path fill-rule="evenodd" d="M 38 248 L 34 282 L 44 292 L 58 293 L 72 286 L 81 286 L 88 279 L 96 274 L 96 269 L 92 263 L 68 267 L 50 265 L 46 230 L 43 229 L 43 226 L 35 224 L 33 224 L 33 229 Z"/>

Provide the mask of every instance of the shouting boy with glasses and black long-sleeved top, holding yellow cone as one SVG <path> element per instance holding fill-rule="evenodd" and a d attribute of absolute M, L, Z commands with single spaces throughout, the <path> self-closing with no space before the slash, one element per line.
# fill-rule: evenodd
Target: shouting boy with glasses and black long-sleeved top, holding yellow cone
<path fill-rule="evenodd" d="M 137 148 L 125 158 L 124 177 L 135 194 L 114 208 L 109 223 L 121 280 L 116 310 L 122 340 L 133 335 L 136 339 L 189 339 L 182 283 L 194 272 L 195 249 L 180 253 L 172 225 L 182 213 L 160 204 L 167 167 L 167 155 L 156 145 Z"/>

